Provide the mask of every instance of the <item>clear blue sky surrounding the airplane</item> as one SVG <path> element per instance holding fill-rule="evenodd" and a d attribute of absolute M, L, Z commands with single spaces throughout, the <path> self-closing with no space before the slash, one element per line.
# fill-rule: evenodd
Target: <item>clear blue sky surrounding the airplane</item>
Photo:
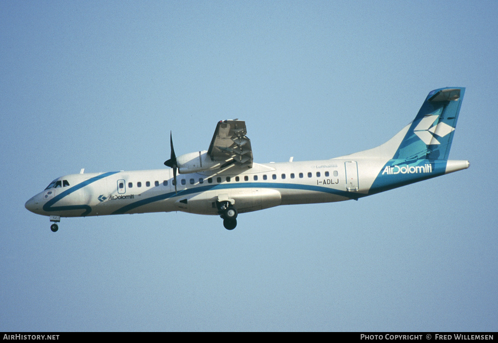
<path fill-rule="evenodd" d="M 496 1 L 1 1 L 0 331 L 497 331 Z M 56 177 L 163 168 L 246 120 L 254 161 L 383 143 L 466 87 L 458 173 L 239 216 L 62 219 Z"/>

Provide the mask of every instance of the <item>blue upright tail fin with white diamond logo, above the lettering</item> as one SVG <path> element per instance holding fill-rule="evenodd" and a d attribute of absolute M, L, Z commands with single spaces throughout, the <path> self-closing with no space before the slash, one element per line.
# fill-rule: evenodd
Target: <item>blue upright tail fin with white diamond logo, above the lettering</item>
<path fill-rule="evenodd" d="M 392 159 L 447 160 L 465 88 L 429 93 Z"/>

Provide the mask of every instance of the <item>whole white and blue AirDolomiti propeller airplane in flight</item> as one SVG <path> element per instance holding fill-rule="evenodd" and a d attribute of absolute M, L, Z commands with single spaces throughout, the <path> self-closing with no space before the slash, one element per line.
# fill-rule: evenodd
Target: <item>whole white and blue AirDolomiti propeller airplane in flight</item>
<path fill-rule="evenodd" d="M 59 177 L 29 199 L 27 210 L 61 217 L 182 211 L 216 215 L 226 229 L 239 214 L 280 205 L 358 200 L 470 166 L 448 160 L 465 88 L 431 91 L 415 119 L 385 143 L 332 159 L 253 162 L 246 122 L 219 121 L 208 150 L 176 156 L 169 169 Z M 399 97 L 398 97 L 399 99 Z"/>

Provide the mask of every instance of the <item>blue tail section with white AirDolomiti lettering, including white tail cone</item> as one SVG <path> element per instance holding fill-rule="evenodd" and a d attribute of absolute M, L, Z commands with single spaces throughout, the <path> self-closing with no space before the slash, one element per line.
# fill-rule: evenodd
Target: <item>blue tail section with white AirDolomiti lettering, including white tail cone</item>
<path fill-rule="evenodd" d="M 387 142 L 397 148 L 376 175 L 369 194 L 469 167 L 468 161 L 448 161 L 464 92 L 465 88 L 441 88 L 429 93 L 415 119 Z"/>

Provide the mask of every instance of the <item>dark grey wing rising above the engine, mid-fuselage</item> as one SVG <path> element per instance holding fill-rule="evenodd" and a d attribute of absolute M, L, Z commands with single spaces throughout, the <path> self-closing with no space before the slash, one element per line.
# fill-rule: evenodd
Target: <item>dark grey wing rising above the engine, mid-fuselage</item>
<path fill-rule="evenodd" d="M 209 145 L 208 155 L 213 161 L 228 161 L 241 167 L 252 168 L 252 148 L 246 133 L 244 120 L 219 121 Z"/>

